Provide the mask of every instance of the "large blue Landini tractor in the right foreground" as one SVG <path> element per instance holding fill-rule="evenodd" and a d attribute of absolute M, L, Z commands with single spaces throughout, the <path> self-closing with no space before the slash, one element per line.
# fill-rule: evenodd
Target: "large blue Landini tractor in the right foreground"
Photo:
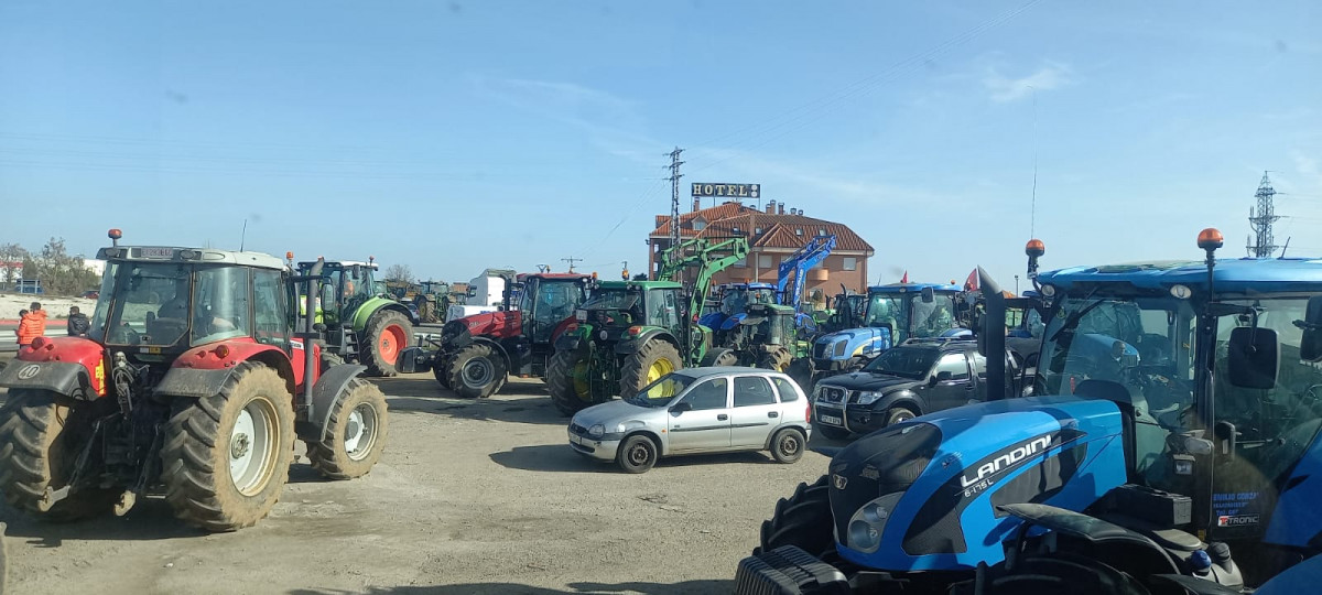
<path fill-rule="evenodd" d="M 777 502 L 736 592 L 1245 592 L 1322 551 L 1322 260 L 1222 243 L 1042 274 L 1034 395 L 842 448 Z"/>

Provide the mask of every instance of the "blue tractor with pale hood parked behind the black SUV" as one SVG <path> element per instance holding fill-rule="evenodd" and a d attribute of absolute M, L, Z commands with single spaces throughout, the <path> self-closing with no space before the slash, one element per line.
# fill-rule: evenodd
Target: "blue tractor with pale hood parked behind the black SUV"
<path fill-rule="evenodd" d="M 910 337 L 964 335 L 956 325 L 956 315 L 962 307 L 960 298 L 960 287 L 953 284 L 892 283 L 869 287 L 863 327 L 813 340 L 814 378 L 855 370 Z"/>

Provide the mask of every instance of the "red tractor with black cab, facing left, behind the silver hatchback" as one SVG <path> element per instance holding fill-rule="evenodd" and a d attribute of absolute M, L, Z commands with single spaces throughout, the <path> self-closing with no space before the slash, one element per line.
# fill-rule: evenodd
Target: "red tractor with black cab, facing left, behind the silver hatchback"
<path fill-rule="evenodd" d="M 506 279 L 498 312 L 446 323 L 440 340 L 428 340 L 435 349 L 408 348 L 399 356 L 401 372 L 430 369 L 442 386 L 468 398 L 496 394 L 508 374 L 542 377 L 555 352 L 555 337 L 572 323 L 591 282 L 591 275 L 575 272 L 525 272 Z"/>

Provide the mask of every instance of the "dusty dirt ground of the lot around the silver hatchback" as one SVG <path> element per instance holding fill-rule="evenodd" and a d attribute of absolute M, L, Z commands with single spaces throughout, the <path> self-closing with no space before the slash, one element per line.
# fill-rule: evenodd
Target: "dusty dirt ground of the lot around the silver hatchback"
<path fill-rule="evenodd" d="M 625 475 L 570 450 L 541 381 L 485 401 L 443 394 L 430 374 L 379 385 L 391 410 L 375 469 L 325 481 L 300 460 L 255 528 L 189 529 L 156 497 L 71 525 L 0 506 L 9 592 L 730 592 L 776 500 L 828 464 L 756 452 Z"/>

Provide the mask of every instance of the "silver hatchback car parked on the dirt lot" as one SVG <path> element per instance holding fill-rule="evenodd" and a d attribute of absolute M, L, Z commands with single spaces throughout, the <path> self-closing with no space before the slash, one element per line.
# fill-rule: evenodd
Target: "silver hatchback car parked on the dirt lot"
<path fill-rule="evenodd" d="M 804 456 L 808 397 L 779 372 L 687 368 L 623 401 L 595 405 L 570 420 L 570 447 L 642 473 L 657 459 L 701 452 L 771 451 L 780 463 Z"/>

